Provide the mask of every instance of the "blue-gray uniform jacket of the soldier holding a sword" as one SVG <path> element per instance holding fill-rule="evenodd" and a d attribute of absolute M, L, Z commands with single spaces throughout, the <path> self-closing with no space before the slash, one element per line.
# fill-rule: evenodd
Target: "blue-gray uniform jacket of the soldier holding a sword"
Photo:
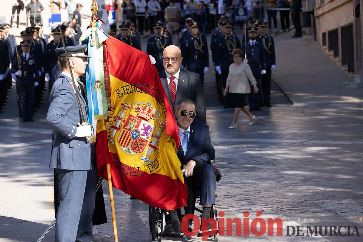
<path fill-rule="evenodd" d="M 91 143 L 85 137 L 75 137 L 77 124 L 81 121 L 76 95 L 69 84 L 72 80 L 60 75 L 49 95 L 46 120 L 53 127 L 53 147 L 49 168 L 73 171 L 91 169 Z M 82 111 L 87 119 L 86 101 L 78 91 Z"/>

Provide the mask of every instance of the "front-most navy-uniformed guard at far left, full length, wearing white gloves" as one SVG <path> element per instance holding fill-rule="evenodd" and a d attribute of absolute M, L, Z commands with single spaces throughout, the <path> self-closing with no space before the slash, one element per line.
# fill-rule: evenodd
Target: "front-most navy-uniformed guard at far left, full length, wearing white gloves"
<path fill-rule="evenodd" d="M 38 86 L 37 57 L 30 53 L 30 42 L 20 42 L 22 52 L 15 55 L 12 61 L 12 77 L 19 88 L 20 108 L 23 122 L 33 122 L 34 92 L 33 87 Z"/>

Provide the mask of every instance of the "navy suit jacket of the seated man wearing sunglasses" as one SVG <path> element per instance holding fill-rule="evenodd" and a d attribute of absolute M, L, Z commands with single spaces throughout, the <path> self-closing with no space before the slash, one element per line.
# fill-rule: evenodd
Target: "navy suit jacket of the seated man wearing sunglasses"
<path fill-rule="evenodd" d="M 186 165 L 189 160 L 195 160 L 196 167 L 203 165 L 208 160 L 214 160 L 216 151 L 209 136 L 209 126 L 194 120 L 190 125 L 187 153 L 184 156 L 183 148 L 180 145 L 176 155 L 182 165 Z"/>

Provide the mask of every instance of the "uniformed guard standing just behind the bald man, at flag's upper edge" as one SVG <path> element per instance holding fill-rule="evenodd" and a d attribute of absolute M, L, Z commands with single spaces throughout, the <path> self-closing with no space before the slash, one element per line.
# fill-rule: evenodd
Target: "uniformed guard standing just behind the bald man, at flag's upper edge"
<path fill-rule="evenodd" d="M 171 39 L 162 35 L 163 27 L 160 22 L 156 22 L 152 26 L 152 29 L 154 33 L 150 34 L 147 40 L 146 53 L 155 58 L 155 67 L 158 71 L 161 71 L 164 69 L 163 51 L 166 46 L 171 45 Z"/>

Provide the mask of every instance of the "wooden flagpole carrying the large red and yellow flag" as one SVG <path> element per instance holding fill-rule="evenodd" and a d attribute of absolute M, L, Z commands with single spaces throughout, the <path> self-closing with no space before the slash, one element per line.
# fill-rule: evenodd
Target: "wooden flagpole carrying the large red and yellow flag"
<path fill-rule="evenodd" d="M 95 18 L 96 18 L 97 11 L 98 11 L 97 0 L 92 0 L 92 5 L 91 5 L 91 12 L 92 12 L 91 27 L 96 27 L 97 20 Z M 93 32 L 93 34 L 94 34 L 94 32 Z M 92 34 L 92 39 L 91 39 L 91 45 L 95 45 L 95 38 L 94 38 L 93 34 Z M 112 225 L 113 225 L 113 229 L 114 229 L 114 238 L 115 238 L 115 242 L 118 242 L 116 213 L 115 213 L 115 202 L 114 202 L 114 198 L 113 198 L 110 164 L 106 164 L 106 168 L 107 168 L 107 181 L 109 182 L 109 193 L 110 193 Z"/>

